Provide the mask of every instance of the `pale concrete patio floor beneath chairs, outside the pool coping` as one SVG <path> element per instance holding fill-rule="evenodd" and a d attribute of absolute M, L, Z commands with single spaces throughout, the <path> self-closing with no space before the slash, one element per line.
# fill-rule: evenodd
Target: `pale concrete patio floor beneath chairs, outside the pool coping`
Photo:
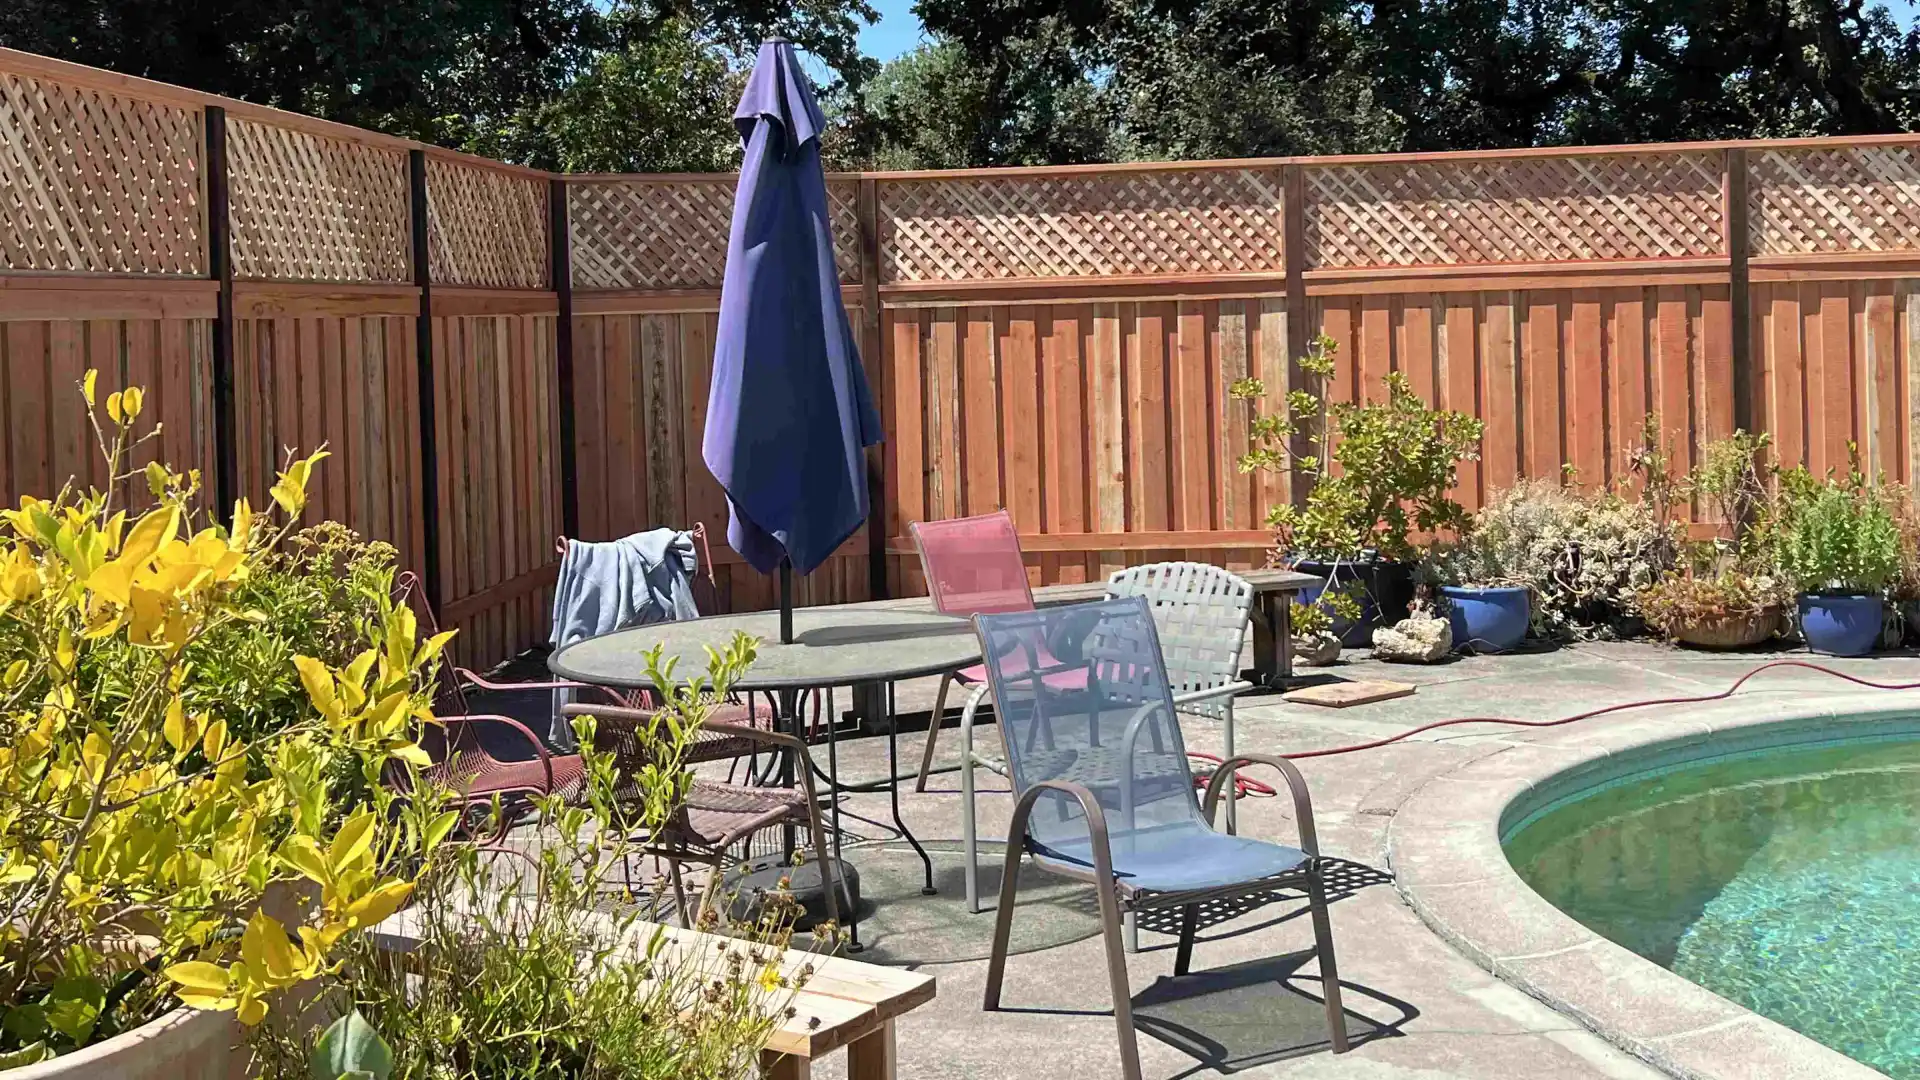
<path fill-rule="evenodd" d="M 1419 692 L 1344 711 L 1290 705 L 1271 694 L 1246 696 L 1238 705 L 1240 749 L 1306 751 L 1463 715 L 1546 721 L 1607 703 L 1713 694 L 1768 659 L 1807 657 L 1803 651 L 1705 655 L 1645 642 L 1467 657 L 1438 667 L 1388 669 L 1357 659 L 1361 653 L 1348 655 L 1356 659 L 1331 673 L 1415 682 Z M 1912 655 L 1822 663 L 1880 680 L 1920 678 L 1920 657 Z M 918 690 L 902 692 L 902 711 L 914 707 Z M 1851 690 L 1859 688 L 1816 673 L 1774 671 L 1741 696 L 1768 707 L 1797 696 L 1812 709 L 1818 696 Z M 1893 700 L 1891 694 L 1884 698 Z M 1920 698 L 1914 700 L 1920 703 Z M 1728 705 L 1718 709 L 1724 715 Z M 1738 703 L 1732 709 L 1738 711 Z M 1645 724 L 1659 717 L 1678 721 L 1684 713 L 1686 707 L 1636 709 L 1582 721 L 1580 726 Z M 1187 730 L 1190 749 L 1219 753 L 1217 724 L 1194 721 Z M 1284 953 L 1311 944 L 1306 919 L 1296 917 L 1304 907 L 1283 901 L 1250 913 L 1225 913 L 1225 920 L 1204 920 L 1196 972 L 1183 980 L 1171 978 L 1173 938 L 1148 932 L 1142 922 L 1142 949 L 1129 957 L 1129 970 L 1148 1076 L 1663 1076 L 1442 942 L 1392 882 L 1388 830 L 1396 811 L 1415 792 L 1438 774 L 1515 742 L 1565 730 L 1455 726 L 1380 749 L 1300 761 L 1313 788 L 1321 849 L 1348 863 L 1340 874 L 1344 888 L 1334 894 L 1332 924 L 1356 1047 L 1344 1057 L 1327 1053 L 1319 999 L 1281 984 L 1298 963 L 1286 961 Z M 985 738 L 995 738 L 993 728 L 985 728 Z M 920 740 L 920 732 L 902 732 L 902 771 L 908 761 L 918 761 Z M 958 732 L 943 732 L 941 759 L 954 761 L 956 746 Z M 883 774 L 885 740 L 843 740 L 837 749 L 845 780 Z M 987 790 L 979 799 L 981 836 L 1004 838 L 1012 803 L 1006 784 L 985 773 L 981 778 Z M 1016 955 L 1008 961 L 1002 995 L 1006 1011 L 983 1013 L 993 917 L 991 911 L 968 915 L 960 896 L 958 778 L 941 774 L 927 794 L 912 794 L 910 788 L 906 784 L 902 794 L 904 817 L 935 849 L 939 897 L 920 896 L 920 863 L 906 844 L 889 840 L 889 830 L 877 824 L 845 819 L 849 840 L 872 838 L 847 853 L 862 874 L 868 899 L 860 932 L 868 949 L 860 959 L 910 965 L 939 980 L 939 997 L 900 1020 L 902 1076 L 1117 1074 L 1114 1020 L 1087 888 L 1031 878 L 1035 890 L 1021 892 L 1014 920 Z M 887 801 L 885 796 L 852 796 L 843 813 L 883 822 Z M 1240 801 L 1244 834 L 1292 842 L 1288 817 L 1284 799 Z M 996 857 L 995 846 L 983 859 L 989 909 L 998 882 Z M 1292 986 L 1317 994 L 1311 959 Z M 831 1068 L 824 1063 L 818 1074 L 831 1076 Z"/>

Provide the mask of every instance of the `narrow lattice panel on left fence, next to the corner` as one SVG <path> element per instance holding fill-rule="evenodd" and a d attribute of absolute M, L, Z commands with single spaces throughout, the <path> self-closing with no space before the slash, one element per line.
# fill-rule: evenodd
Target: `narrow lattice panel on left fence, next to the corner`
<path fill-rule="evenodd" d="M 426 158 L 426 263 L 436 284 L 547 288 L 545 181 Z"/>

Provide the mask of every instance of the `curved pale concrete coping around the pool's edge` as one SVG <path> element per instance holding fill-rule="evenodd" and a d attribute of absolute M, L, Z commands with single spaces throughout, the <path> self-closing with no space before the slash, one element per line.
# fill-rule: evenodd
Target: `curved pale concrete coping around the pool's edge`
<path fill-rule="evenodd" d="M 1807 734 L 1836 724 L 1884 726 L 1916 711 L 1914 692 L 1743 696 L 1507 742 L 1427 780 L 1398 807 L 1386 836 L 1394 882 L 1421 920 L 1471 961 L 1663 1072 L 1885 1080 L 1588 930 L 1521 880 L 1500 836 L 1530 801 L 1565 792 L 1582 774 L 1603 776 L 1609 761 L 1624 767 L 1667 749 L 1692 755 L 1809 742 Z"/>

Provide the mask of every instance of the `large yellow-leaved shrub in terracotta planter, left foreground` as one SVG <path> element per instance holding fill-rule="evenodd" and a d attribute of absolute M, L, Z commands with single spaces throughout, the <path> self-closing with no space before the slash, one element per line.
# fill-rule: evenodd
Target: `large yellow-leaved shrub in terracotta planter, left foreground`
<path fill-rule="evenodd" d="M 401 815 L 338 792 L 424 759 L 409 730 L 444 638 L 419 644 L 386 605 L 349 663 L 298 661 L 324 700 L 252 724 L 207 650 L 275 632 L 246 584 L 324 452 L 280 473 L 278 521 L 242 500 L 196 528 L 198 473 L 127 469 L 152 438 L 132 434 L 142 394 L 111 394 L 102 425 L 94 382 L 113 482 L 0 513 L 0 1068 L 240 1076 L 232 1020 L 257 1024 L 413 890 L 430 801 Z M 140 515 L 115 505 L 134 480 Z"/>

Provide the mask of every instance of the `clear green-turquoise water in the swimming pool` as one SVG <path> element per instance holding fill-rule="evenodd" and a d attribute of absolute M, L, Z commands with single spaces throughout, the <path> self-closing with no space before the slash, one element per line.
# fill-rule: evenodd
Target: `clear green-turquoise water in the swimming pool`
<path fill-rule="evenodd" d="M 1528 815 L 1505 847 L 1594 932 L 1920 1080 L 1920 738 L 1640 773 Z"/>

